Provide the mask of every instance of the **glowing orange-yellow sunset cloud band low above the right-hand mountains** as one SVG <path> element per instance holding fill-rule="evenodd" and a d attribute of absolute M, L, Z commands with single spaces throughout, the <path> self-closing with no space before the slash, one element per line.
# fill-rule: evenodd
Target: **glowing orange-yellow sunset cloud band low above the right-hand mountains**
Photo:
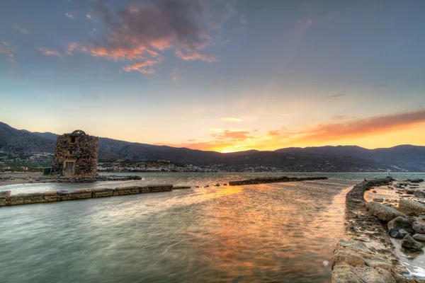
<path fill-rule="evenodd" d="M 212 129 L 212 134 L 210 134 L 212 139 L 210 141 L 167 145 L 229 152 L 248 149 L 274 150 L 287 146 L 326 145 L 329 143 L 335 144 L 335 142 L 343 143 L 343 141 L 350 141 L 350 143 L 352 141 L 351 144 L 356 144 L 356 141 L 363 137 L 370 137 L 370 140 L 376 139 L 380 141 L 380 137 L 384 137 L 386 134 L 397 133 L 397 131 L 406 130 L 410 127 L 414 129 L 414 126 L 420 126 L 424 122 L 425 110 L 419 109 L 394 115 L 378 115 L 367 119 L 351 120 L 349 122 L 319 124 L 293 132 L 282 127 L 278 130 L 270 130 L 266 135 L 256 135 L 255 137 L 251 136 L 249 129 Z M 419 134 L 424 136 L 423 132 Z M 395 145 L 394 143 L 392 144 Z"/>

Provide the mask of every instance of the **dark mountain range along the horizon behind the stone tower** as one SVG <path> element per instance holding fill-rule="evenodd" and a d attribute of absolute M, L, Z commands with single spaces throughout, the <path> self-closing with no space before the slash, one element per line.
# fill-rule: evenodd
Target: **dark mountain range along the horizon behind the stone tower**
<path fill-rule="evenodd" d="M 53 153 L 57 134 L 14 129 L 0 122 L 0 151 L 10 154 Z M 220 165 L 231 171 L 247 167 L 281 171 L 392 171 L 425 172 L 425 146 L 400 145 L 387 149 L 360 146 L 318 146 L 276 151 L 239 151 L 222 154 L 171 146 L 157 146 L 99 137 L 99 160 L 169 160 L 199 166 Z"/>

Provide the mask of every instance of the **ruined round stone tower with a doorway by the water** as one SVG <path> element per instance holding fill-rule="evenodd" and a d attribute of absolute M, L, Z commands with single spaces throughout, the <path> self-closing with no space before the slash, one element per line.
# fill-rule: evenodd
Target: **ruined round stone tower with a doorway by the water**
<path fill-rule="evenodd" d="M 98 160 L 98 138 L 77 129 L 57 137 L 52 171 L 58 175 L 94 176 Z"/>

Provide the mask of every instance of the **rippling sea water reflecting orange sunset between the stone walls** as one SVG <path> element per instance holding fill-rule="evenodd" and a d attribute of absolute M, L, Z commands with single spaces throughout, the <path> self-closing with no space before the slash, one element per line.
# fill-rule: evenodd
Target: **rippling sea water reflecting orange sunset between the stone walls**
<path fill-rule="evenodd" d="M 344 197 L 378 174 L 203 187 L 266 173 L 151 173 L 142 181 L 26 184 L 0 190 L 173 183 L 143 195 L 0 208 L 0 282 L 329 282 Z M 314 175 L 288 173 L 285 175 Z M 324 174 L 320 174 L 324 175 Z M 395 175 L 395 178 L 424 178 Z"/>

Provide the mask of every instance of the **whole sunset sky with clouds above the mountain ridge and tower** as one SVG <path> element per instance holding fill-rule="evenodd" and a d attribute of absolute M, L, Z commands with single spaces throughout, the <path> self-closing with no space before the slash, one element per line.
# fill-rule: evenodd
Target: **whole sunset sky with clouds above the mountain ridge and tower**
<path fill-rule="evenodd" d="M 3 0 L 0 122 L 221 152 L 425 146 L 425 1 Z"/>

